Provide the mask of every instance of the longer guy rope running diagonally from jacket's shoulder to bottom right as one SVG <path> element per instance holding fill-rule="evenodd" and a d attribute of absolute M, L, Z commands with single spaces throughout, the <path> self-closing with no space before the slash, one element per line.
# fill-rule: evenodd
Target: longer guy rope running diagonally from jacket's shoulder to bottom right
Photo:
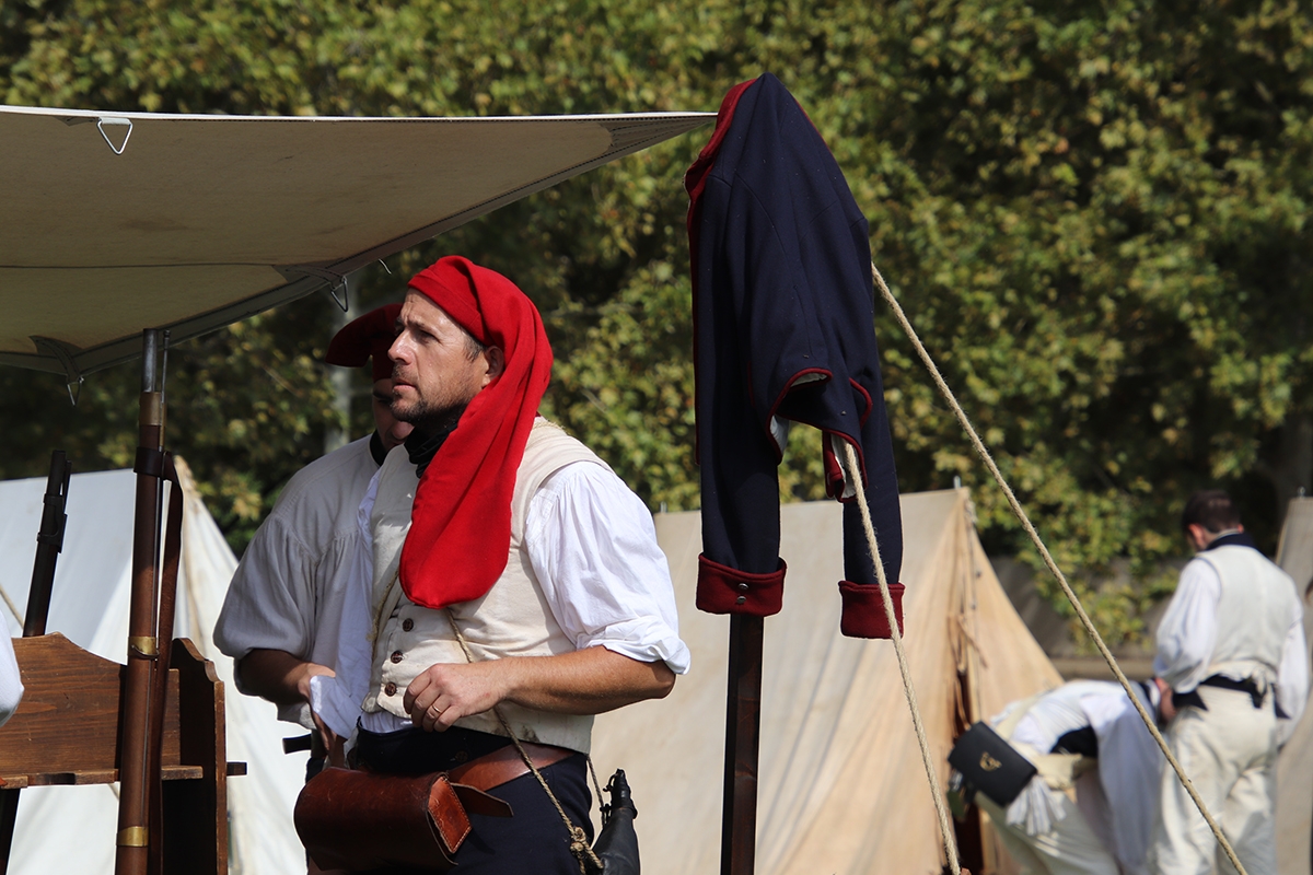
<path fill-rule="evenodd" d="M 985 462 L 985 467 L 989 468 L 989 472 L 994 476 L 994 480 L 998 483 L 999 488 L 1003 489 L 1003 495 L 1007 497 L 1007 502 L 1012 508 L 1012 514 L 1022 523 L 1022 527 L 1025 529 L 1025 534 L 1031 537 L 1031 542 L 1035 544 L 1035 548 L 1040 551 L 1040 556 L 1044 559 L 1044 564 L 1048 567 L 1053 577 L 1058 581 L 1058 585 L 1062 588 L 1062 593 L 1067 597 L 1067 601 L 1071 602 L 1071 607 L 1075 609 L 1077 617 L 1081 618 L 1081 624 L 1085 626 L 1085 630 L 1090 634 L 1090 639 L 1094 641 L 1095 647 L 1099 648 L 1099 653 L 1103 655 L 1103 659 L 1104 661 L 1107 661 L 1108 668 L 1112 669 L 1112 673 L 1116 676 L 1117 682 L 1121 683 L 1123 689 L 1125 689 L 1127 691 L 1127 695 L 1130 697 L 1130 703 L 1136 706 L 1136 711 L 1140 714 L 1140 719 L 1144 720 L 1145 727 L 1148 727 L 1149 733 L 1153 736 L 1153 740 L 1158 743 L 1158 746 L 1162 749 L 1163 756 L 1167 757 L 1167 762 L 1176 773 L 1176 777 L 1180 778 L 1180 783 L 1186 787 L 1186 791 L 1190 794 L 1190 798 L 1195 800 L 1195 805 L 1199 808 L 1199 813 L 1204 816 L 1204 820 L 1208 823 L 1208 828 L 1213 830 L 1213 836 L 1217 838 L 1217 844 L 1221 845 L 1222 851 L 1225 851 L 1226 858 L 1232 862 L 1232 866 L 1236 867 L 1236 871 L 1239 875 L 1247 875 L 1245 867 L 1241 866 L 1239 858 L 1236 857 L 1236 851 L 1234 849 L 1232 849 L 1230 842 L 1226 841 L 1226 836 L 1222 834 L 1221 826 L 1218 826 L 1217 821 L 1213 820 L 1213 816 L 1208 813 L 1208 807 L 1204 804 L 1204 800 L 1199 796 L 1199 791 L 1195 790 L 1195 784 L 1191 783 L 1190 778 L 1186 775 L 1186 770 L 1180 766 L 1180 762 L 1176 761 L 1176 757 L 1174 757 L 1171 754 L 1171 750 L 1167 748 L 1167 743 L 1163 740 L 1162 733 L 1158 732 L 1157 723 L 1149 716 L 1149 712 L 1140 702 L 1140 697 L 1136 695 L 1134 691 L 1130 689 L 1130 681 L 1127 680 L 1127 676 L 1125 673 L 1123 673 L 1121 666 L 1117 665 L 1117 660 L 1112 656 L 1112 651 L 1109 651 L 1108 645 L 1103 643 L 1103 636 L 1099 635 L 1099 630 L 1094 627 L 1094 621 L 1091 621 L 1090 615 L 1086 614 L 1085 607 L 1081 605 L 1081 600 L 1075 594 L 1075 590 L 1073 590 L 1071 585 L 1067 584 L 1066 576 L 1062 573 L 1057 563 L 1053 560 L 1053 556 L 1049 554 L 1048 547 L 1044 546 L 1044 540 L 1040 538 L 1040 534 L 1035 530 L 1035 526 L 1031 523 L 1031 518 L 1025 516 L 1025 510 L 1022 509 L 1020 501 L 1016 500 L 1016 495 L 1014 495 L 1012 488 L 1007 484 L 1007 480 L 1003 478 L 1003 474 L 998 470 L 998 466 L 994 463 L 994 457 L 990 455 L 990 451 L 985 447 L 983 441 L 981 441 L 979 436 L 976 433 L 976 429 L 974 426 L 972 426 L 970 420 L 962 411 L 961 404 L 957 403 L 957 397 L 953 395 L 953 391 L 948 388 L 948 383 L 945 383 L 943 375 L 940 375 L 939 367 L 935 366 L 935 359 L 930 357 L 930 353 L 926 350 L 926 346 L 920 342 L 920 337 L 916 336 L 916 329 L 913 328 L 911 321 L 907 320 L 907 315 L 898 304 L 898 299 L 894 298 L 892 291 L 889 291 L 889 286 L 885 285 L 885 278 L 880 275 L 880 270 L 876 268 L 874 262 L 871 262 L 871 275 L 874 278 L 876 287 L 880 289 L 880 294 L 884 295 L 885 303 L 888 303 L 889 308 L 893 310 L 894 317 L 898 320 L 898 324 L 907 335 L 907 338 L 911 340 L 911 345 L 916 349 L 916 354 L 920 356 L 920 361 L 922 363 L 926 365 L 926 370 L 928 370 L 930 375 L 935 379 L 935 386 L 939 387 L 940 395 L 943 395 L 944 400 L 948 401 L 948 405 L 953 409 L 953 415 L 957 417 L 957 421 L 961 422 L 962 428 L 966 430 L 966 436 L 972 439 L 972 446 L 976 447 L 976 454 L 981 457 L 981 460 Z M 878 568 L 878 565 L 880 563 L 877 561 L 876 567 Z M 894 640 L 897 641 L 897 639 Z"/>

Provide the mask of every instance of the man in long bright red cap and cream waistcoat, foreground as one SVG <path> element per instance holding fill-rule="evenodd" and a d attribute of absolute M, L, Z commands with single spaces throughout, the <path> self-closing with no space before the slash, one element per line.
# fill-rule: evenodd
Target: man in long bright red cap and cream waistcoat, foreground
<path fill-rule="evenodd" d="M 355 757 L 391 774 L 508 761 L 491 794 L 515 815 L 470 813 L 460 871 L 572 875 L 570 834 L 508 732 L 591 832 L 592 715 L 688 670 L 670 569 L 638 496 L 537 416 L 551 349 L 524 293 L 456 256 L 410 286 L 390 354 L 393 413 L 415 432 L 361 508 L 373 635 Z"/>

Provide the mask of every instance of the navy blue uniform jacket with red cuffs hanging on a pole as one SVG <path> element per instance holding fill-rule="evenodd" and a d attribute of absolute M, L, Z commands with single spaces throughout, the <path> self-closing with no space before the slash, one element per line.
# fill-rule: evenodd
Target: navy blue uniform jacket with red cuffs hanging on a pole
<path fill-rule="evenodd" d="M 697 606 L 780 610 L 777 467 L 783 429 L 805 422 L 821 429 L 827 491 L 846 502 L 842 630 L 888 638 L 853 480 L 844 496 L 840 468 L 848 442 L 901 626 L 902 521 L 867 219 L 821 135 L 769 73 L 726 96 L 684 182 L 702 483 Z"/>

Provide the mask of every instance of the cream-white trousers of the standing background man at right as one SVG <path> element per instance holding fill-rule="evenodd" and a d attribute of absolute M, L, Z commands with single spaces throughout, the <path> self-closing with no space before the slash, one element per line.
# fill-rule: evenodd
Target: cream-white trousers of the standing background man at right
<path fill-rule="evenodd" d="M 1197 691 L 1208 710 L 1182 708 L 1167 744 L 1249 875 L 1276 875 L 1272 695 L 1255 708 L 1247 693 L 1215 686 Z M 1215 859 L 1218 871 L 1236 871 L 1173 769 L 1162 771 L 1161 800 L 1149 851 L 1153 871 L 1208 875 Z"/>

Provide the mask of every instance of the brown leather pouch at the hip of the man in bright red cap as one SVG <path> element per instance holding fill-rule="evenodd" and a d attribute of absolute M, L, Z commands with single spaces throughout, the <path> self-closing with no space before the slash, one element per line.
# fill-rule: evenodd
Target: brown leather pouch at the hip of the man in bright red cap
<path fill-rule="evenodd" d="M 538 769 L 574 753 L 537 744 L 524 749 Z M 444 872 L 456 866 L 456 851 L 470 834 L 471 812 L 512 816 L 511 805 L 487 791 L 528 770 L 515 746 L 419 777 L 328 767 L 306 783 L 293 820 L 319 868 Z"/>

